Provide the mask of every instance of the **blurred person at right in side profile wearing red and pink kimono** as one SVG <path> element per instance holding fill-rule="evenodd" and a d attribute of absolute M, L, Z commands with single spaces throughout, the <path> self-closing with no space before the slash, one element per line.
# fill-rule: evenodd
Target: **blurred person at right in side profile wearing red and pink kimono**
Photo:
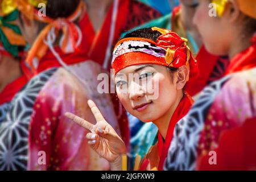
<path fill-rule="evenodd" d="M 177 123 L 165 169 L 255 169 L 255 7 L 255 1 L 199 1 L 193 22 L 205 48 L 230 63 Z"/>

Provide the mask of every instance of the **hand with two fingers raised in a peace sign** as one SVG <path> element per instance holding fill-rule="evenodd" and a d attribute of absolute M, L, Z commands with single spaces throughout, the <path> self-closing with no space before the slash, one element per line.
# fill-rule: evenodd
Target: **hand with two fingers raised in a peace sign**
<path fill-rule="evenodd" d="M 109 162 L 114 162 L 121 154 L 126 153 L 125 143 L 118 136 L 113 127 L 106 122 L 100 110 L 92 100 L 88 100 L 88 105 L 96 119 L 97 123 L 95 125 L 72 113 L 65 113 L 65 116 L 89 130 L 90 133 L 86 135 L 88 144 L 102 156 L 102 158 L 105 158 Z"/>

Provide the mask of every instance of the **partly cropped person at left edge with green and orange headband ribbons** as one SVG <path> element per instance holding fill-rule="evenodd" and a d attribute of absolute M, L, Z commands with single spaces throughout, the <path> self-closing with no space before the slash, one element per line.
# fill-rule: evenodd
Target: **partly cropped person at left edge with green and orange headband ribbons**
<path fill-rule="evenodd" d="M 1 3 L 1 2 L 0 2 Z M 0 4 L 1 5 L 1 4 Z M 15 20 L 18 11 L 0 11 L 0 123 L 3 122 L 11 100 L 27 83 L 26 65 L 22 61 L 26 45 Z"/>

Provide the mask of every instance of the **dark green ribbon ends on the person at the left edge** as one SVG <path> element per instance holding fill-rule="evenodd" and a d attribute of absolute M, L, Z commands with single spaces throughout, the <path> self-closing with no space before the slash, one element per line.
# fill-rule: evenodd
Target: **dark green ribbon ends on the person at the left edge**
<path fill-rule="evenodd" d="M 6 35 L 4 34 L 1 27 L 9 27 L 13 30 L 16 34 L 21 34 L 19 27 L 11 24 L 18 18 L 18 11 L 15 10 L 7 16 L 0 16 L 0 41 L 7 52 L 9 52 L 14 57 L 18 57 L 18 46 L 14 46 L 10 44 L 9 40 L 7 39 Z"/>

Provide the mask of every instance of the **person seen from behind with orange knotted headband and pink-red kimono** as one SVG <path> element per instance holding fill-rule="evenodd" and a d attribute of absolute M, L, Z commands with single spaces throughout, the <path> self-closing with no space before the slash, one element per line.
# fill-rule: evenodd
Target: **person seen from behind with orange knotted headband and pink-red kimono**
<path fill-rule="evenodd" d="M 45 15 L 40 14 L 39 3 L 46 5 Z M 18 25 L 30 46 L 26 63 L 34 75 L 11 101 L 0 125 L 0 168 L 109 169 L 109 163 L 84 141 L 86 131 L 63 114 L 72 111 L 92 118 L 83 103 L 94 98 L 119 135 L 120 128 L 129 131 L 125 122 L 118 123 L 109 94 L 97 92 L 95 75 L 104 71 L 86 61 L 80 47 L 82 32 L 77 22 L 84 13 L 84 2 L 16 0 L 5 5 L 4 9 L 19 10 Z"/>

